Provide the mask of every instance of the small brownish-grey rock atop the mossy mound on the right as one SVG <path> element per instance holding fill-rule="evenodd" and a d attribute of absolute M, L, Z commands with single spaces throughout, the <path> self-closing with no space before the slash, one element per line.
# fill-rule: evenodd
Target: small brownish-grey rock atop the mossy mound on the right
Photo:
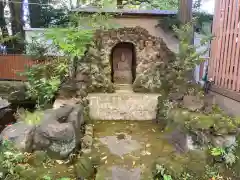
<path fill-rule="evenodd" d="M 200 110 L 204 107 L 204 101 L 198 96 L 184 96 L 183 107 L 190 111 Z"/>

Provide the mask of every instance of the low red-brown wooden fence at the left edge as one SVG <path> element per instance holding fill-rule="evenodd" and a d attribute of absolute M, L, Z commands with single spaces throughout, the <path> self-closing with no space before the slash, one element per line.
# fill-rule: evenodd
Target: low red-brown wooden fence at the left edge
<path fill-rule="evenodd" d="M 0 55 L 0 80 L 26 80 L 18 73 L 33 63 L 26 55 Z"/>

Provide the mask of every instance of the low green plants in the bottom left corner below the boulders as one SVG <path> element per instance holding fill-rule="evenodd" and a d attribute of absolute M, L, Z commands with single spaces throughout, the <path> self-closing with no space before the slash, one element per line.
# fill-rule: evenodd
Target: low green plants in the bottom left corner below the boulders
<path fill-rule="evenodd" d="M 0 179 L 2 180 L 73 180 L 66 175 L 61 177 L 58 169 L 52 169 L 54 166 L 56 164 L 43 151 L 33 154 L 23 153 L 8 140 L 4 140 L 0 146 Z"/>

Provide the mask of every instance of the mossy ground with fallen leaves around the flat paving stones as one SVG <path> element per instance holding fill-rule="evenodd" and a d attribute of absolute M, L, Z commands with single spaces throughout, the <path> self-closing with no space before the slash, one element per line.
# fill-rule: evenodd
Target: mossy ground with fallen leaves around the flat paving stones
<path fill-rule="evenodd" d="M 182 180 L 183 174 L 186 173 L 196 177 L 196 180 L 208 180 L 211 173 L 218 172 L 221 176 L 240 178 L 237 175 L 240 173 L 233 171 L 233 168 L 227 169 L 222 164 L 213 165 L 207 150 L 178 153 L 166 140 L 164 132 L 161 132 L 160 129 L 151 121 L 96 121 L 92 154 L 99 155 L 101 159 L 97 180 L 104 180 L 107 177 L 111 179 L 112 166 L 123 167 L 127 170 L 139 167 L 142 170 L 141 179 L 152 180 L 152 170 L 156 163 L 164 165 L 175 180 Z M 142 148 L 126 154 L 122 158 L 112 154 L 108 147 L 99 141 L 99 138 L 117 136 L 118 133 L 131 135 L 132 139 L 142 145 Z M 144 151 L 147 153 L 143 154 Z M 240 163 L 236 163 L 235 166 L 237 164 Z"/>

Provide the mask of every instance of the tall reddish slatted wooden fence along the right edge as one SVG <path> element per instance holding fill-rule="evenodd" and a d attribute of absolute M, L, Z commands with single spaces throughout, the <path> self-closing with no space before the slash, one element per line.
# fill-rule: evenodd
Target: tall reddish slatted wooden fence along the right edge
<path fill-rule="evenodd" d="M 214 80 L 213 89 L 236 95 L 240 92 L 240 0 L 215 3 L 209 78 Z"/>

